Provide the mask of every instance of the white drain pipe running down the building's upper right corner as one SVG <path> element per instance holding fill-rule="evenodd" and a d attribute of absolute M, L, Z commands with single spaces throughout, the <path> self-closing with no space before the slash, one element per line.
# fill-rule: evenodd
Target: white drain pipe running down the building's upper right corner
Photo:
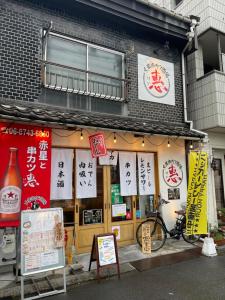
<path fill-rule="evenodd" d="M 194 38 L 194 35 L 196 32 L 194 31 L 195 27 L 198 25 L 198 22 L 195 19 L 192 19 L 191 27 L 190 27 L 190 32 L 187 33 L 188 36 L 188 42 L 186 46 L 184 47 L 182 53 L 181 53 L 181 65 L 182 65 L 182 82 L 183 82 L 183 99 L 184 99 L 184 121 L 186 123 L 190 124 L 190 130 L 194 131 L 196 133 L 199 133 L 201 135 L 205 135 L 205 138 L 208 137 L 208 134 L 206 132 L 197 130 L 193 128 L 193 121 L 188 120 L 187 117 L 187 88 L 186 88 L 186 76 L 185 76 L 185 51 L 188 49 L 190 46 L 192 39 Z"/>

